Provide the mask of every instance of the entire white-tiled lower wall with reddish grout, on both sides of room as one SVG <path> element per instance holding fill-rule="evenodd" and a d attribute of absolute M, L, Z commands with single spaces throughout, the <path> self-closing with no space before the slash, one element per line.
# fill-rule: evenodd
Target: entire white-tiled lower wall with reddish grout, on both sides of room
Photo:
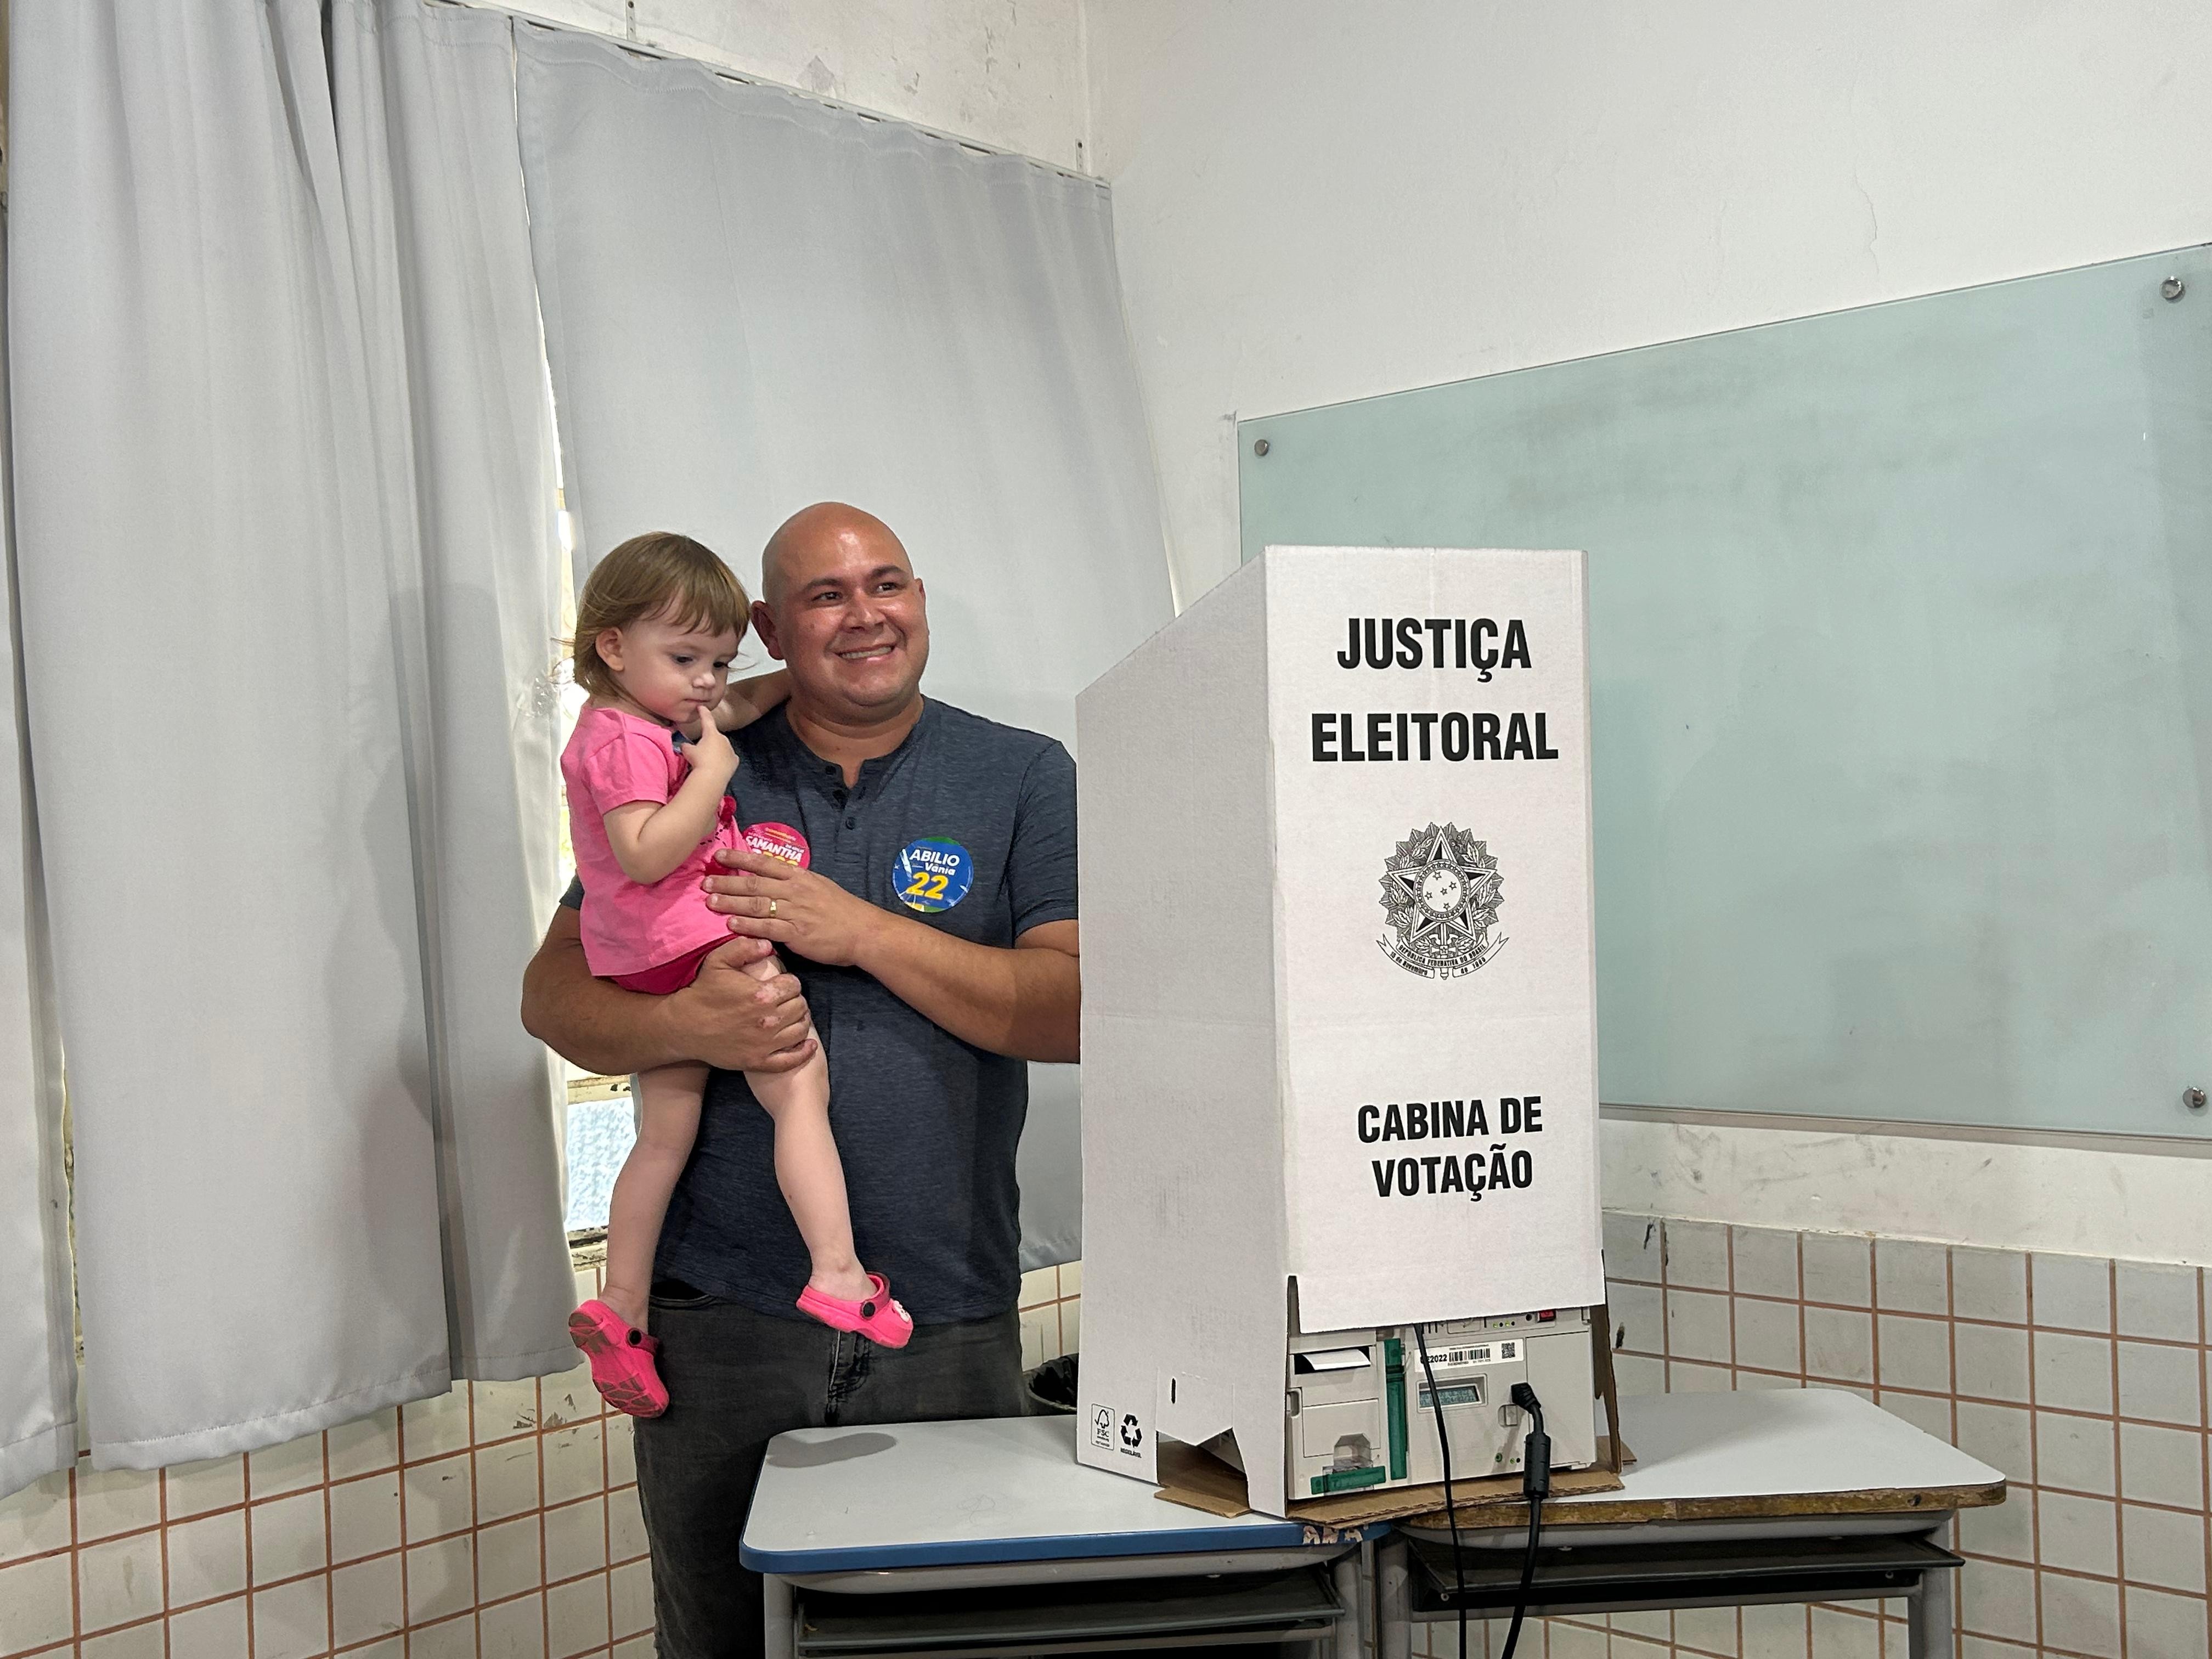
<path fill-rule="evenodd" d="M 1960 1657 L 2205 1659 L 2197 1270 L 1606 1219 L 1621 1387 L 1849 1387 L 2013 1480 L 1958 1548 Z M 591 1270 L 580 1274 L 588 1294 Z M 1082 1267 L 1022 1352 L 1082 1345 Z M 0 1502 L 0 1659 L 650 1652 L 628 1420 L 584 1371 L 462 1387 L 252 1458 L 80 1464 Z M 1524 1659 L 1900 1659 L 1902 1604 L 1533 1624 Z M 1416 1652 L 1455 1652 L 1420 1626 Z M 1478 1626 L 1471 1652 L 1502 1628 Z"/>

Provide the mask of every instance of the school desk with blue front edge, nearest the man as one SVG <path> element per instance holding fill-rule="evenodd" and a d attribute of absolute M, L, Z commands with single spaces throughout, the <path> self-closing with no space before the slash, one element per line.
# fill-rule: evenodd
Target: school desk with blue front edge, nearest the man
<path fill-rule="evenodd" d="M 1385 1526 L 1223 1520 L 1075 1462 L 1075 1418 L 794 1429 L 741 1559 L 770 1659 L 1314 1644 L 1358 1659 Z"/>

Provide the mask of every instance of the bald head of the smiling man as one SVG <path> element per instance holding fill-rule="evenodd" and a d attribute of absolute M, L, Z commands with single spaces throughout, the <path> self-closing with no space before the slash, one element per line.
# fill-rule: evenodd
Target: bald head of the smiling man
<path fill-rule="evenodd" d="M 752 626 L 792 670 L 799 712 L 838 726 L 905 714 L 929 666 L 929 606 L 891 526 L 858 507 L 792 513 L 761 551 Z"/>

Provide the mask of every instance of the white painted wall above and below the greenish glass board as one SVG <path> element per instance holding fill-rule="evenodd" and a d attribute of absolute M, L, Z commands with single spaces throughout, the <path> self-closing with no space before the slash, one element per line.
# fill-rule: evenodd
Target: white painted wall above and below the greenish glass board
<path fill-rule="evenodd" d="M 2212 239 L 2181 0 L 1093 0 L 1179 599 L 1234 418 Z M 2148 1148 L 2146 1148 L 2148 1150 Z M 2212 1164 L 1610 1121 L 1615 1208 L 2212 1261 Z"/>

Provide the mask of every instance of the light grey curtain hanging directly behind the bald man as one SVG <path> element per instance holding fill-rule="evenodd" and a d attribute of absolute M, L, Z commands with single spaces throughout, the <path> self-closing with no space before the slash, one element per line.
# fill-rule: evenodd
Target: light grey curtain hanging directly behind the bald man
<path fill-rule="evenodd" d="M 531 239 L 580 577 L 699 535 L 745 580 L 812 500 L 929 582 L 927 690 L 1073 748 L 1172 615 L 1106 188 L 518 29 Z M 1031 1071 L 1024 1265 L 1079 1250 L 1068 1066 Z"/>

